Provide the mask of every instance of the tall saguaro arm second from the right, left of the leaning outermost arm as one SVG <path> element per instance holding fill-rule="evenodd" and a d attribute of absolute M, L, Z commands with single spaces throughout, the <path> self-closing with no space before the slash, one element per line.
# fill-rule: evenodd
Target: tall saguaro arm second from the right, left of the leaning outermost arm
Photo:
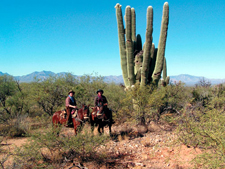
<path fill-rule="evenodd" d="M 151 6 L 147 9 L 147 29 L 146 29 L 146 41 L 145 49 L 143 54 L 143 63 L 141 69 L 141 86 L 147 84 L 148 72 L 149 72 L 149 63 L 150 63 L 150 52 L 152 47 L 152 31 L 153 31 L 153 9 Z"/>

